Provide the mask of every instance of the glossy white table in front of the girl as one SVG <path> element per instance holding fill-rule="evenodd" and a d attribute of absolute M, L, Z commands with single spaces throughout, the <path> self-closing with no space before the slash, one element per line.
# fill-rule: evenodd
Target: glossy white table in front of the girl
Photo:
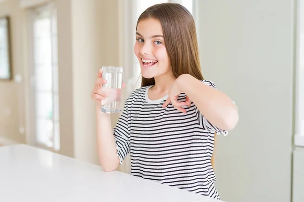
<path fill-rule="evenodd" d="M 18 144 L 0 146 L 0 201 L 219 200 Z"/>

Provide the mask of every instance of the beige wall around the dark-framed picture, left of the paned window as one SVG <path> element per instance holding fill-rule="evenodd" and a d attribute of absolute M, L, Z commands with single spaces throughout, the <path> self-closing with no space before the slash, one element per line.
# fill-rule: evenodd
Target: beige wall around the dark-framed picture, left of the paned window
<path fill-rule="evenodd" d="M 14 81 L 15 75 L 24 74 L 23 23 L 24 11 L 17 0 L 0 3 L 0 16 L 10 16 L 12 45 L 12 80 L 0 80 L 0 143 L 3 139 L 25 142 L 24 80 Z"/>

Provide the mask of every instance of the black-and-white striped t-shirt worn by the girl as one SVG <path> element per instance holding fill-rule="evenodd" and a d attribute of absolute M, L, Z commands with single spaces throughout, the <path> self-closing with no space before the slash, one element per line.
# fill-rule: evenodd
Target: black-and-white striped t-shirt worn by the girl
<path fill-rule="evenodd" d="M 210 124 L 194 103 L 184 107 L 186 113 L 172 104 L 163 108 L 168 95 L 150 100 L 150 87 L 133 91 L 114 128 L 120 163 L 130 152 L 132 175 L 220 199 L 211 157 L 214 133 L 227 132 Z M 184 93 L 178 97 L 185 99 Z"/>

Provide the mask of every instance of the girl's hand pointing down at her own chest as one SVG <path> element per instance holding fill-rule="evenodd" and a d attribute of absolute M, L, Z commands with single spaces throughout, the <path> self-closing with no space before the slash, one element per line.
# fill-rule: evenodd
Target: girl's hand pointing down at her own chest
<path fill-rule="evenodd" d="M 166 102 L 163 104 L 163 108 L 167 107 L 170 103 L 172 103 L 173 107 L 175 107 L 178 111 L 182 113 L 186 113 L 186 110 L 182 108 L 183 106 L 191 106 L 191 100 L 188 96 L 186 96 L 185 102 L 179 102 L 177 100 L 178 95 L 182 93 L 181 89 L 177 85 L 176 82 L 173 83 L 170 91 L 169 91 L 169 97 L 167 98 Z"/>

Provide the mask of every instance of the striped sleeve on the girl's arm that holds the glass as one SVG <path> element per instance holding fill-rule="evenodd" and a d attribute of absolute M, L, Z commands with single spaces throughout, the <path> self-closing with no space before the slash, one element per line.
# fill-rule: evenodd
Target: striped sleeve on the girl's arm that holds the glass
<path fill-rule="evenodd" d="M 124 111 L 113 129 L 113 135 L 116 141 L 117 157 L 119 158 L 120 165 L 122 165 L 123 160 L 130 151 L 129 98 L 126 100 Z"/>

